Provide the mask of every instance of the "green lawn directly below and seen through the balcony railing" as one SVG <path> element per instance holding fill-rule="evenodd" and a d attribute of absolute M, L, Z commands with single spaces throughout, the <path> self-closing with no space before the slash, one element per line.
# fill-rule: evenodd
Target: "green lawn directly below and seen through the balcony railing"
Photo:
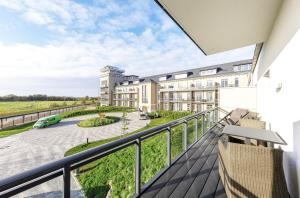
<path fill-rule="evenodd" d="M 176 118 L 187 115 L 187 113 L 169 113 L 165 117 L 156 118 L 151 122 L 133 132 L 139 132 L 154 126 L 170 122 Z M 199 137 L 201 135 L 201 122 L 199 121 Z M 189 122 L 188 142 L 194 140 L 194 122 Z M 172 128 L 171 147 L 174 159 L 182 151 L 182 126 Z M 132 133 L 131 133 L 132 134 Z M 130 135 L 130 134 L 128 134 Z M 121 137 L 100 140 L 89 144 L 79 145 L 66 152 L 71 155 L 101 144 L 105 144 Z M 100 160 L 92 162 L 80 168 L 78 180 L 87 197 L 105 197 L 110 185 L 113 197 L 132 197 L 134 194 L 134 146 L 113 153 Z M 161 133 L 142 142 L 142 184 L 145 184 L 163 167 L 166 166 L 166 134 Z M 110 185 L 108 185 L 110 184 Z"/>

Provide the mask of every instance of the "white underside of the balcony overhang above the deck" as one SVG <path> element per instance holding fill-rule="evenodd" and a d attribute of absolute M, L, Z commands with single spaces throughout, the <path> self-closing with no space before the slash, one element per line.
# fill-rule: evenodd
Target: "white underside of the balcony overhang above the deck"
<path fill-rule="evenodd" d="M 282 0 L 156 0 L 209 55 L 267 40 Z"/>

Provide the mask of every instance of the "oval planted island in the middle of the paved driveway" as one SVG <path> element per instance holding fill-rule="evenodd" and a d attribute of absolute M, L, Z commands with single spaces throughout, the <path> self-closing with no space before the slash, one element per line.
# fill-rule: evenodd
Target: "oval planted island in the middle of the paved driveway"
<path fill-rule="evenodd" d="M 106 116 L 105 118 L 91 118 L 88 120 L 83 120 L 79 122 L 77 125 L 80 127 L 98 127 L 98 126 L 112 124 L 118 121 L 120 121 L 119 117 Z"/>

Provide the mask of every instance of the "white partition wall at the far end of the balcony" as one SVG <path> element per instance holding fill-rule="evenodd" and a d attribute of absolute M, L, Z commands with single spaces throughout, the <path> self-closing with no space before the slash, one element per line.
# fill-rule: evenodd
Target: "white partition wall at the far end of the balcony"
<path fill-rule="evenodd" d="M 219 107 L 231 111 L 245 108 L 256 112 L 255 87 L 227 87 L 219 89 Z"/>

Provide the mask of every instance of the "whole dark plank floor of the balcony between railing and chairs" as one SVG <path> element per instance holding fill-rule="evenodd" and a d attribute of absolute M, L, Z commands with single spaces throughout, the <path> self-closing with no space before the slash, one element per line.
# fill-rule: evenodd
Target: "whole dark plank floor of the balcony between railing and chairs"
<path fill-rule="evenodd" d="M 150 197 L 226 198 L 218 173 L 218 134 L 214 127 L 141 195 Z"/>

